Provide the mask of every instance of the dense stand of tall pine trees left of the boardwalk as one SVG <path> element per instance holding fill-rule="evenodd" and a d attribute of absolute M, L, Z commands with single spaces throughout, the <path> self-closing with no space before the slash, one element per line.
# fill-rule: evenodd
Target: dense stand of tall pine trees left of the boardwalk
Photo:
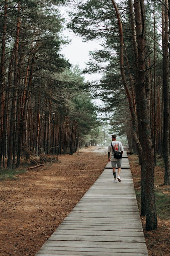
<path fill-rule="evenodd" d="M 63 2 L 0 3 L 0 166 L 32 152 L 73 154 L 98 124 L 81 71 L 60 54 Z"/>

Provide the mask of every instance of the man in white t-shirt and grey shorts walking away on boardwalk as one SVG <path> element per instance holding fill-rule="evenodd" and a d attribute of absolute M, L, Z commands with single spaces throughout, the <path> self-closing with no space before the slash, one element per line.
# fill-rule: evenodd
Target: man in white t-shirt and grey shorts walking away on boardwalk
<path fill-rule="evenodd" d="M 121 153 L 123 154 L 123 146 L 122 146 L 122 143 L 120 141 L 117 141 L 116 140 L 116 135 L 113 134 L 112 135 L 112 145 L 113 145 L 113 148 L 114 148 L 114 151 L 121 151 Z M 112 149 L 112 145 L 111 143 L 109 143 L 108 145 L 108 161 L 112 163 L 112 167 L 113 167 L 113 176 L 115 178 L 115 182 L 116 181 L 116 164 L 117 164 L 117 167 L 118 167 L 118 176 L 117 176 L 117 179 L 118 181 L 121 181 L 120 179 L 120 171 L 121 171 L 121 166 L 122 166 L 122 159 L 116 159 L 114 158 L 114 155 L 113 155 L 113 149 Z M 110 154 L 111 154 L 111 158 L 110 158 Z"/>

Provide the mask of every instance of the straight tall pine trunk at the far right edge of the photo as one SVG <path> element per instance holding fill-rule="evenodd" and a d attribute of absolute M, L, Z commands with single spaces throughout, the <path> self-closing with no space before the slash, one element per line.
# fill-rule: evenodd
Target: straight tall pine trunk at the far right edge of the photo
<path fill-rule="evenodd" d="M 168 0 L 165 0 L 163 18 L 163 100 L 164 100 L 164 163 L 165 185 L 170 185 L 169 172 L 169 59 L 168 59 Z"/>

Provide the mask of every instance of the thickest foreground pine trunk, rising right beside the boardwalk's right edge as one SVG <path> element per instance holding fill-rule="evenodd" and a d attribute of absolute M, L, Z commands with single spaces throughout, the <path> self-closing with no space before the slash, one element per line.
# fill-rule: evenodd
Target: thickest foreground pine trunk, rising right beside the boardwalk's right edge
<path fill-rule="evenodd" d="M 138 72 L 136 77 L 136 94 L 140 95 L 137 100 L 137 108 L 142 110 L 140 116 L 141 123 L 141 145 L 142 160 L 146 166 L 146 230 L 155 230 L 157 228 L 157 216 L 154 195 L 154 151 L 151 139 L 150 115 L 148 108 L 149 86 L 146 73 L 146 23 L 145 23 L 145 2 L 144 0 L 135 0 L 135 20 L 138 42 Z M 149 152 L 149 154 L 148 154 Z"/>

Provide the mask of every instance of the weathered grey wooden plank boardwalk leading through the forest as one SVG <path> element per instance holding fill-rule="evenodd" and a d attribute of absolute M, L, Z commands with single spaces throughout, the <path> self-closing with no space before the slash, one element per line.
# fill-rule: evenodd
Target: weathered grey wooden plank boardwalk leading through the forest
<path fill-rule="evenodd" d="M 122 181 L 113 182 L 108 163 L 36 256 L 148 255 L 129 161 L 123 155 Z"/>

